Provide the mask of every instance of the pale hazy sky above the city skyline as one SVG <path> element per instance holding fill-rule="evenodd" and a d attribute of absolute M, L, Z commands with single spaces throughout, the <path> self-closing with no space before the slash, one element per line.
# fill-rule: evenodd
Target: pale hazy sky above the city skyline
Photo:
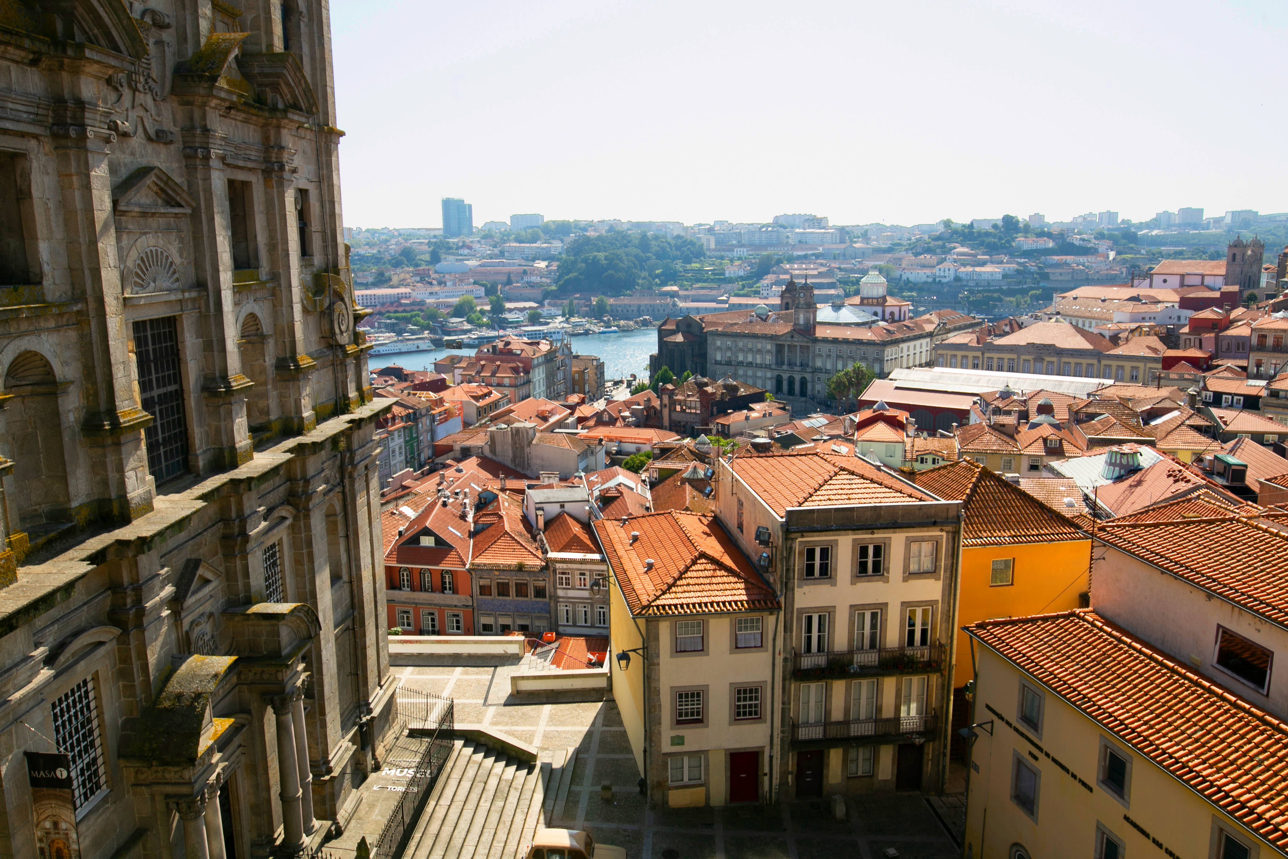
<path fill-rule="evenodd" d="M 1288 4 L 334 0 L 349 227 L 1288 210 Z"/>

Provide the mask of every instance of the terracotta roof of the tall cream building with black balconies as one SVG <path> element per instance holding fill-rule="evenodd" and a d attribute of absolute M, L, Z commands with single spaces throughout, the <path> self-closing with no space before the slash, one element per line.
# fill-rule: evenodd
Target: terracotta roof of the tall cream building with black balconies
<path fill-rule="evenodd" d="M 867 460 L 849 456 L 815 452 L 741 455 L 729 467 L 779 518 L 787 515 L 787 507 L 934 501 L 934 496 Z"/>

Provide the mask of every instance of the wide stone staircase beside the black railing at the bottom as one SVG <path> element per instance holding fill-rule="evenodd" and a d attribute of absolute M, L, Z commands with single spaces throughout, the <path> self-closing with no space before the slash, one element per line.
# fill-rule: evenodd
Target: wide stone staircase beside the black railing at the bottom
<path fill-rule="evenodd" d="M 404 859 L 516 859 L 567 798 L 576 760 L 576 748 L 529 762 L 457 739 Z"/>

